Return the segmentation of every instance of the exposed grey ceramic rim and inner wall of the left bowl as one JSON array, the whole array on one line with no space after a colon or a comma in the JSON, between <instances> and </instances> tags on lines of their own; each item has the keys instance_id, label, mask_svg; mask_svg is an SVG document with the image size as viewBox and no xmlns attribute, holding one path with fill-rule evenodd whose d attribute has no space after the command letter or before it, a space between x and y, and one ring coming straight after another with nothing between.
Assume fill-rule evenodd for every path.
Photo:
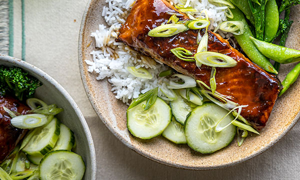
<instances>
[{"instance_id":1,"label":"exposed grey ceramic rim and inner wall of the left bowl","mask_svg":"<svg viewBox=\"0 0 300 180\"><path fill-rule=\"evenodd\" d=\"M63 112L57 114L57 118L74 132L77 144L74 151L82 156L86 166L83 179L95 180L96 154L92 137L87 123L72 97L56 80L27 62L0 54L0 64L20 67L42 82L43 85L36 89L34 96L48 104L55 103L58 107L63 108Z\"/></svg>"}]
</instances>

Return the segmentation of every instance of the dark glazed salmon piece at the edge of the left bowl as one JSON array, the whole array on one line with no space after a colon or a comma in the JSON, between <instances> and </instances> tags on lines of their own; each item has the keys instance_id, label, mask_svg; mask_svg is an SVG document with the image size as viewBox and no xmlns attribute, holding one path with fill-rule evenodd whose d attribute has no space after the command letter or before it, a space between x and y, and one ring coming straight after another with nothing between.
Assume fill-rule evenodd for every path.
<instances>
[{"instance_id":1,"label":"dark glazed salmon piece at the edge of the left bowl","mask_svg":"<svg viewBox=\"0 0 300 180\"><path fill-rule=\"evenodd\" d=\"M14 149L26 132L10 124L11 117L3 106L20 114L26 114L30 110L28 106L12 96L0 96L0 162Z\"/></svg>"}]
</instances>

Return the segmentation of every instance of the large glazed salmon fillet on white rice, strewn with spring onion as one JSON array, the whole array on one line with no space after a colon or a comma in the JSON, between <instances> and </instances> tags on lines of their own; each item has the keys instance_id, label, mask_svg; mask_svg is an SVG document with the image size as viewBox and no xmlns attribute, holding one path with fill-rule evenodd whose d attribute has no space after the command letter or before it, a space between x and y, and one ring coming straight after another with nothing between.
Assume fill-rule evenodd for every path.
<instances>
[{"instance_id":1,"label":"large glazed salmon fillet on white rice, strewn with spring onion","mask_svg":"<svg viewBox=\"0 0 300 180\"><path fill-rule=\"evenodd\" d=\"M174 13L179 20L189 20L186 14L176 10L166 0L137 0L119 30L118 40L209 85L211 67L197 67L195 62L181 60L170 51L175 47L183 47L195 54L198 47L197 30L189 29L171 37L147 35L149 30L166 23ZM202 29L201 34L203 32ZM208 31L207 50L228 55L237 61L234 67L216 68L216 91L239 105L248 105L242 108L241 115L256 129L265 126L281 89L278 78L251 62L230 46L227 40L211 31Z\"/></svg>"}]
</instances>

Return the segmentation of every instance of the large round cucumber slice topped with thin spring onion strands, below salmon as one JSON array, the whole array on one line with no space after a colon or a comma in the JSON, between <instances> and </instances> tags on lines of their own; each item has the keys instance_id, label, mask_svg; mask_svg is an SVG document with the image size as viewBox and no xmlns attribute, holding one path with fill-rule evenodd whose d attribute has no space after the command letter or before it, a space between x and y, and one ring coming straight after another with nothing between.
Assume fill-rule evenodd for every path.
<instances>
[{"instance_id":1,"label":"large round cucumber slice topped with thin spring onion strands, below salmon","mask_svg":"<svg viewBox=\"0 0 300 180\"><path fill-rule=\"evenodd\" d=\"M193 109L184 125L187 144L201 153L212 153L227 146L235 135L234 125L230 124L220 132L214 131L216 123L226 113L228 113L227 110L211 102ZM230 114L221 123L225 126L233 119Z\"/></svg>"}]
</instances>

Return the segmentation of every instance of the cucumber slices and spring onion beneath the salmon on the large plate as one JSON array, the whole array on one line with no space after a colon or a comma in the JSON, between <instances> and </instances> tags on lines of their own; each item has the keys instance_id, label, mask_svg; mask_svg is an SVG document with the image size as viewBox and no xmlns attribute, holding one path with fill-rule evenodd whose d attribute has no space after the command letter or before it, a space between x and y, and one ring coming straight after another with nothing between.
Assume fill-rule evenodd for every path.
<instances>
[{"instance_id":1,"label":"cucumber slices and spring onion beneath the salmon on the large plate","mask_svg":"<svg viewBox=\"0 0 300 180\"><path fill-rule=\"evenodd\" d=\"M127 128L132 135L150 139L161 134L176 144L187 143L195 151L212 153L227 146L235 134L238 146L248 131L259 134L240 115L246 105L228 100L192 77L172 76L179 79L131 101L127 109ZM158 90L163 93L160 97Z\"/></svg>"}]
</instances>

